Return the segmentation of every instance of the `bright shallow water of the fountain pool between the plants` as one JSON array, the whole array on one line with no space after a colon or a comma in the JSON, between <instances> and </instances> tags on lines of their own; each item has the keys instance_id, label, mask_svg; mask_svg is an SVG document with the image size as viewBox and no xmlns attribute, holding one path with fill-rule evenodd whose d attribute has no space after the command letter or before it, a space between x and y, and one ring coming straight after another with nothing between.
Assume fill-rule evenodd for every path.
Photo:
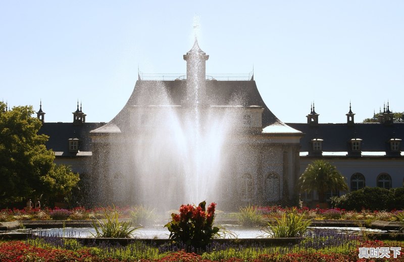
<instances>
[{"instance_id":1,"label":"bright shallow water of the fountain pool between the plants","mask_svg":"<svg viewBox=\"0 0 404 262\"><path fill-rule=\"evenodd\" d=\"M260 228L257 229L243 229L240 227L227 227L228 231L232 234L226 236L226 238L259 238L265 237L264 233L260 231ZM378 229L368 229L368 228L359 228L359 227L309 227L309 230L332 230L338 233L345 234L362 234L362 232L375 232L375 233L384 233L387 231L378 230ZM75 238L87 238L92 237L92 234L95 234L95 230L93 228L52 228L52 229L25 229L18 230L17 232L32 232L38 236L63 236L63 237L75 237ZM166 228L155 227L155 228L141 228L136 231L134 238L139 239L168 239L170 232Z\"/></svg>"}]
</instances>

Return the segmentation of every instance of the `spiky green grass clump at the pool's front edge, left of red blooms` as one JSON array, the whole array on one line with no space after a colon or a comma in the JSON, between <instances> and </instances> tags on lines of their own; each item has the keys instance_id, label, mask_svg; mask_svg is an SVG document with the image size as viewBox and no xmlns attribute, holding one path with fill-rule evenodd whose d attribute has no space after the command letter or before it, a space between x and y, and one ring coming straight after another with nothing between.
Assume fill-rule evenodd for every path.
<instances>
[{"instance_id":1,"label":"spiky green grass clump at the pool's front edge, left of red blooms","mask_svg":"<svg viewBox=\"0 0 404 262\"><path fill-rule=\"evenodd\" d=\"M120 222L119 212L115 206L111 208L103 208L105 220L92 222L92 227L95 229L94 237L105 238L131 238L134 231L141 227L132 227L130 222Z\"/></svg>"}]
</instances>

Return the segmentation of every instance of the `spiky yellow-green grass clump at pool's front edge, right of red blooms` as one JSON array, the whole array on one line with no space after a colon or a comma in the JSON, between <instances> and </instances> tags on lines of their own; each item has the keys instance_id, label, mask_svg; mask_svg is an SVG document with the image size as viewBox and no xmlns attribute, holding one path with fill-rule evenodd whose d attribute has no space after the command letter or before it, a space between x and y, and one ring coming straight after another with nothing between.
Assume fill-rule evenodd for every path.
<instances>
[{"instance_id":1,"label":"spiky yellow-green grass clump at pool's front edge, right of red blooms","mask_svg":"<svg viewBox=\"0 0 404 262\"><path fill-rule=\"evenodd\" d=\"M298 237L306 232L312 224L311 220L304 220L305 213L299 214L296 208L283 213L280 219L275 218L275 223L266 222L261 229L266 237Z\"/></svg>"}]
</instances>

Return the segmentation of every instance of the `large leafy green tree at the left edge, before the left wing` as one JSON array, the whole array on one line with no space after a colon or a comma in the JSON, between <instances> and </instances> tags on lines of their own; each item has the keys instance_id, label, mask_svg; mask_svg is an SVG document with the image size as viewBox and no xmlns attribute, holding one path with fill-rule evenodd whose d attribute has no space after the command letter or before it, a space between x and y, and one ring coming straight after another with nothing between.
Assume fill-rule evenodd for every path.
<instances>
[{"instance_id":1,"label":"large leafy green tree at the left edge, before the left wing","mask_svg":"<svg viewBox=\"0 0 404 262\"><path fill-rule=\"evenodd\" d=\"M32 106L6 110L6 105L0 102L1 206L12 206L23 199L41 195L48 190L47 178L54 178L55 183L62 185L66 182L61 179L62 173L70 176L69 168L56 167L54 164L55 154L52 150L46 150L48 137L37 134L41 121L32 117L33 113Z\"/></svg>"}]
</instances>

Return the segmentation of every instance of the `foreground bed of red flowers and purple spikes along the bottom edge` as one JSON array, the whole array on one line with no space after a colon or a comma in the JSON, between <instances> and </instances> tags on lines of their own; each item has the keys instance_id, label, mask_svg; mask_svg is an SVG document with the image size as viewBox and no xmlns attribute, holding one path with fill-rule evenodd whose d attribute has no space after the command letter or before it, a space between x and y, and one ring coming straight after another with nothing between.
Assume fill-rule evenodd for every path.
<instances>
[{"instance_id":1,"label":"foreground bed of red flowers and purple spikes along the bottom edge","mask_svg":"<svg viewBox=\"0 0 404 262\"><path fill-rule=\"evenodd\" d=\"M401 247L404 242L377 241L336 233L306 236L295 245L246 246L212 243L201 254L185 252L180 246L156 247L135 242L119 245L83 246L75 240L37 238L0 243L1 261L367 261L359 258L359 248ZM171 248L171 249L170 249ZM391 254L392 255L392 254ZM383 260L383 259L380 259ZM394 261L404 261L400 252Z\"/></svg>"}]
</instances>

